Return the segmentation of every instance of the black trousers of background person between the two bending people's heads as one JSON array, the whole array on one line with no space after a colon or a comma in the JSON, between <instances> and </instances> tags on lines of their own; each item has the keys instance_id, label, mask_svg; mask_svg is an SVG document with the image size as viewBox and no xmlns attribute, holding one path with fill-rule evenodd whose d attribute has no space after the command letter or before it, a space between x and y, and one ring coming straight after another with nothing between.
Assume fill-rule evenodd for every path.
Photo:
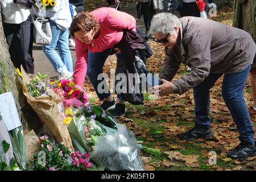
<instances>
[{"instance_id":1,"label":"black trousers of background person between the two bending people's heads","mask_svg":"<svg viewBox=\"0 0 256 182\"><path fill-rule=\"evenodd\" d=\"M141 2L141 14L143 14L146 32L148 32L150 30L151 20L155 15L155 10L153 8L153 1Z\"/></svg>"}]
</instances>

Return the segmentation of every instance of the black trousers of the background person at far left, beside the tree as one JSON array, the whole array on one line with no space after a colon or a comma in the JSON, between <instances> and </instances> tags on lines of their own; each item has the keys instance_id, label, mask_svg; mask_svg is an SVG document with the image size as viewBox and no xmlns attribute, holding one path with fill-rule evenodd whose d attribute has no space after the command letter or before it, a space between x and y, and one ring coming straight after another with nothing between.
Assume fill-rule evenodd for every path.
<instances>
[{"instance_id":1,"label":"black trousers of the background person at far left, beside the tree","mask_svg":"<svg viewBox=\"0 0 256 182\"><path fill-rule=\"evenodd\" d=\"M3 29L11 61L15 68L23 66L27 73L34 74L33 48L33 25L31 16L20 24L3 23Z\"/></svg>"}]
</instances>

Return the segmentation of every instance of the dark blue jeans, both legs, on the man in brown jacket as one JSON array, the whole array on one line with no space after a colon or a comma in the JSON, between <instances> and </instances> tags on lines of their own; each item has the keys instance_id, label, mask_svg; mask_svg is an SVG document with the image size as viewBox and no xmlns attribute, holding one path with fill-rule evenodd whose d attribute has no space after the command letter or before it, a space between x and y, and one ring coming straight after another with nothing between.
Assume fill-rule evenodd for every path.
<instances>
[{"instance_id":1,"label":"dark blue jeans, both legs, on the man in brown jacket","mask_svg":"<svg viewBox=\"0 0 256 182\"><path fill-rule=\"evenodd\" d=\"M239 73L225 74L222 83L222 97L228 107L237 129L240 133L240 140L254 145L254 130L250 121L250 115L243 99L243 88L251 65ZM209 76L195 86L195 114L196 126L210 126L210 88L223 74L210 73Z\"/></svg>"}]
</instances>

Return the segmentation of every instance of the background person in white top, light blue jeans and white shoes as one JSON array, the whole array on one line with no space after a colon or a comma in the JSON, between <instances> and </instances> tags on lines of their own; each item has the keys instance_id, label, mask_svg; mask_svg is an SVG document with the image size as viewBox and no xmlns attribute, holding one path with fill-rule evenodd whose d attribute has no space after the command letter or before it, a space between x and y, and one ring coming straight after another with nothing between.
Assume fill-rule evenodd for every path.
<instances>
[{"instance_id":1,"label":"background person in white top, light blue jeans and white shoes","mask_svg":"<svg viewBox=\"0 0 256 182\"><path fill-rule=\"evenodd\" d=\"M68 0L56 1L55 10L47 13L52 30L51 44L43 46L43 52L59 73L59 79L70 79L73 75L73 61L68 47L68 28L72 17ZM55 51L56 46L60 56Z\"/></svg>"}]
</instances>

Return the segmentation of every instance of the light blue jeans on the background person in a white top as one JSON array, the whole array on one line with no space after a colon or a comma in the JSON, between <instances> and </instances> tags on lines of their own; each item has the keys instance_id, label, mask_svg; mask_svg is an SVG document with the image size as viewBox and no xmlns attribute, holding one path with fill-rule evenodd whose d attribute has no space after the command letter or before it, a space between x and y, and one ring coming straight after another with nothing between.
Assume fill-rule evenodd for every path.
<instances>
[{"instance_id":1,"label":"light blue jeans on the background person in a white top","mask_svg":"<svg viewBox=\"0 0 256 182\"><path fill-rule=\"evenodd\" d=\"M61 30L57 24L49 20L52 30L52 41L48 46L43 46L44 54L47 56L55 71L61 73L65 70L73 73L73 61L68 47L69 30ZM56 46L59 54L55 51Z\"/></svg>"}]
</instances>

